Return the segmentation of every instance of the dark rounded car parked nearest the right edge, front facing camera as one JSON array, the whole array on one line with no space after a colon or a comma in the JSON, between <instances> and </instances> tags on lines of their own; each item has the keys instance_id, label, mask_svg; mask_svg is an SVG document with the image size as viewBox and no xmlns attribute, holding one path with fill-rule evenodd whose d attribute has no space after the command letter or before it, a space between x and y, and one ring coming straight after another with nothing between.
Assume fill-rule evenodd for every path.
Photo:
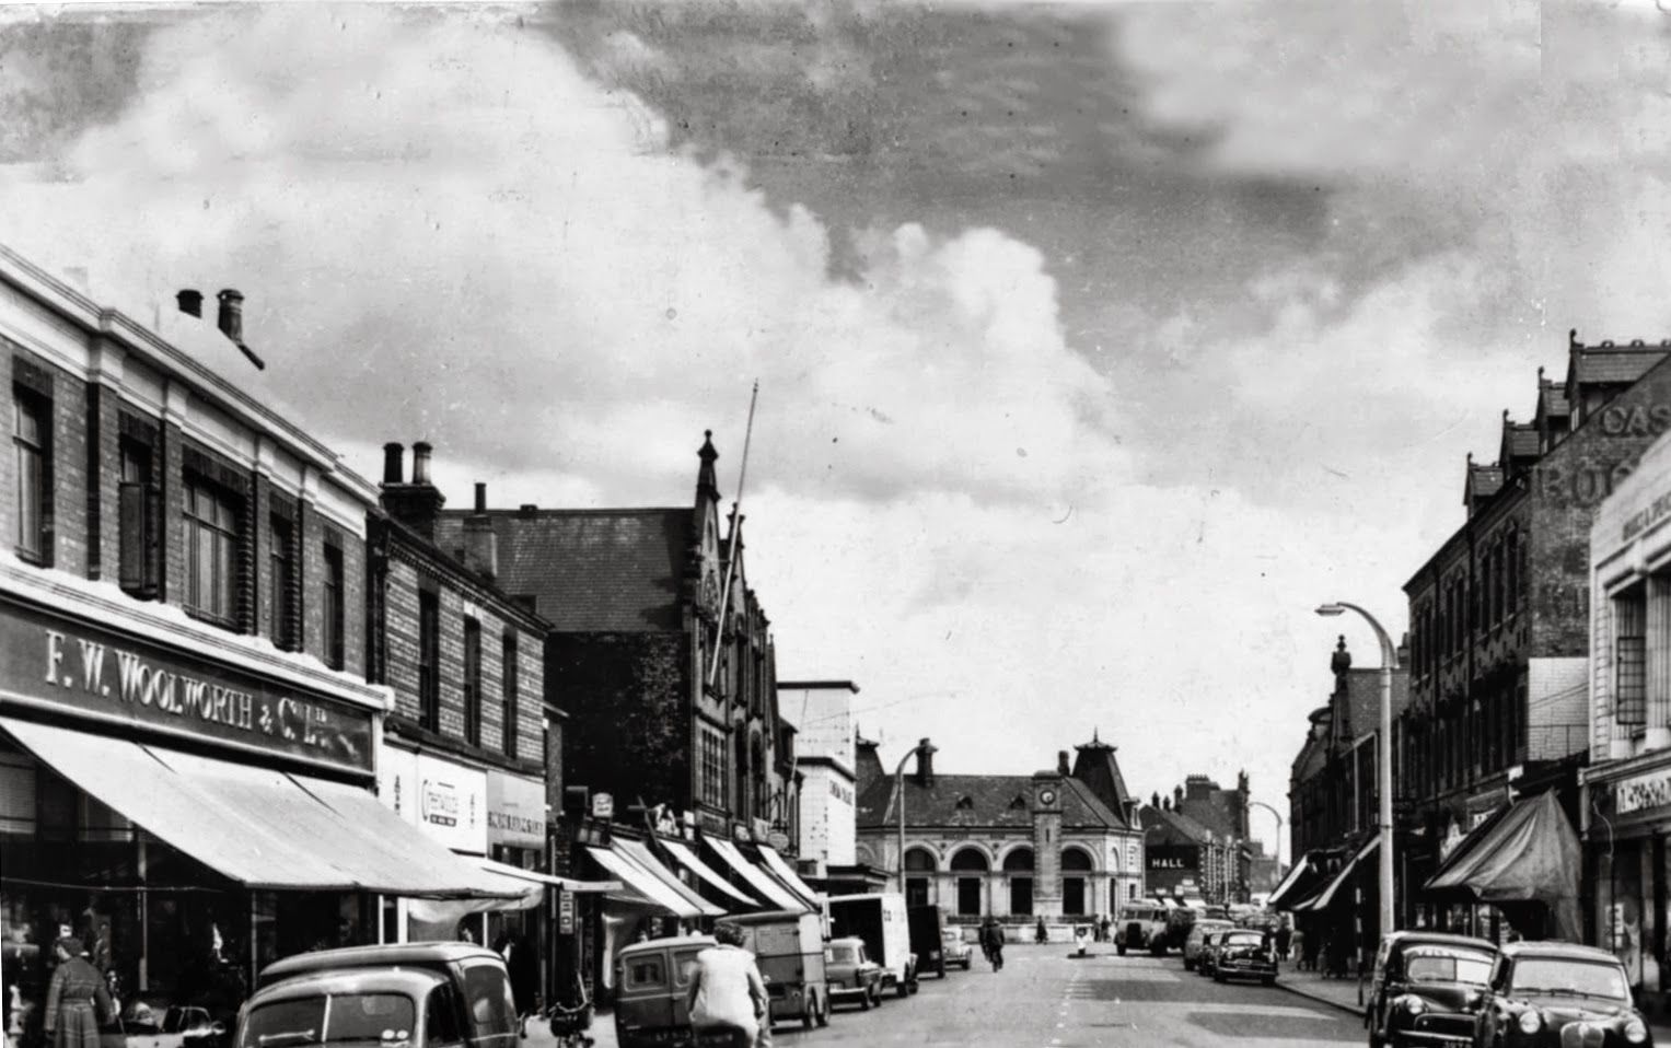
<instances>
[{"instance_id":1,"label":"dark rounded car parked nearest the right edge, front facing camera","mask_svg":"<svg viewBox=\"0 0 1671 1048\"><path fill-rule=\"evenodd\" d=\"M1653 1043L1611 953L1572 943L1509 943L1497 953L1474 1048Z\"/></svg>"}]
</instances>

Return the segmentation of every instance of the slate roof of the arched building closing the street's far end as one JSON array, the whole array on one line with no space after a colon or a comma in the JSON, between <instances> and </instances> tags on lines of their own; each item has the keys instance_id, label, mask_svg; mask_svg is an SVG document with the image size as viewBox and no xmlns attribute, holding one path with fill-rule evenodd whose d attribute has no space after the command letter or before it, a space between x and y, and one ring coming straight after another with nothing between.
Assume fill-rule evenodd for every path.
<instances>
[{"instance_id":1,"label":"slate roof of the arched building closing the street's far end","mask_svg":"<svg viewBox=\"0 0 1671 1048\"><path fill-rule=\"evenodd\" d=\"M1128 829L1126 821L1098 801L1084 782L1068 777L1061 784L1064 829ZM906 774L906 826L1028 829L1033 826L1033 776L934 776L932 786L922 786L914 774ZM859 827L897 826L892 799L892 776L872 782L859 796Z\"/></svg>"}]
</instances>

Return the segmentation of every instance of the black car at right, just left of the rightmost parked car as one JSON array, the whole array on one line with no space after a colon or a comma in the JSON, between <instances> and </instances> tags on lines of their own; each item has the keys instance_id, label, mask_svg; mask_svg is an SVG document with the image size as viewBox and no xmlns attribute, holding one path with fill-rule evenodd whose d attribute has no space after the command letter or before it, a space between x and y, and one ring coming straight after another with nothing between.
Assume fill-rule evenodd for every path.
<instances>
[{"instance_id":1,"label":"black car at right, just left of the rightmost parked car","mask_svg":"<svg viewBox=\"0 0 1671 1048\"><path fill-rule=\"evenodd\" d=\"M1497 948L1439 931L1395 931L1375 951L1364 1008L1372 1048L1474 1038Z\"/></svg>"}]
</instances>

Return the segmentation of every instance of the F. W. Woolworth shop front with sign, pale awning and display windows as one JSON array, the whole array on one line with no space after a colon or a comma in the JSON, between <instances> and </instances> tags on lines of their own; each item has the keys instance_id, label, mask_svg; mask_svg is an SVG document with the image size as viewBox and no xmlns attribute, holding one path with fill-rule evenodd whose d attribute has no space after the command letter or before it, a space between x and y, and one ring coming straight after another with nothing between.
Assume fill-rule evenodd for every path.
<instances>
[{"instance_id":1,"label":"F. W. Woolworth shop front with sign, pale awning and display windows","mask_svg":"<svg viewBox=\"0 0 1671 1048\"><path fill-rule=\"evenodd\" d=\"M511 894L376 802L381 689L90 590L0 592L13 1043L40 1043L63 934L142 1030L169 1008L229 1020L269 961L378 941L379 893Z\"/></svg>"}]
</instances>

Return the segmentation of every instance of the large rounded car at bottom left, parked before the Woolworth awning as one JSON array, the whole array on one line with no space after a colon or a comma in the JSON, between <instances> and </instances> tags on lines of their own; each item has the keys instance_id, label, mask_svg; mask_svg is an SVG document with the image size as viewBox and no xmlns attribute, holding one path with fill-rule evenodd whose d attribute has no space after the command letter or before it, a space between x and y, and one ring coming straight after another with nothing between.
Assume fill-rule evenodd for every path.
<instances>
[{"instance_id":1,"label":"large rounded car at bottom left, parked before the Woolworth awning","mask_svg":"<svg viewBox=\"0 0 1671 1048\"><path fill-rule=\"evenodd\" d=\"M307 1048L328 1033L331 1043L471 1048L521 1040L505 959L470 943L353 946L274 961L239 1008L234 1045Z\"/></svg>"}]
</instances>

